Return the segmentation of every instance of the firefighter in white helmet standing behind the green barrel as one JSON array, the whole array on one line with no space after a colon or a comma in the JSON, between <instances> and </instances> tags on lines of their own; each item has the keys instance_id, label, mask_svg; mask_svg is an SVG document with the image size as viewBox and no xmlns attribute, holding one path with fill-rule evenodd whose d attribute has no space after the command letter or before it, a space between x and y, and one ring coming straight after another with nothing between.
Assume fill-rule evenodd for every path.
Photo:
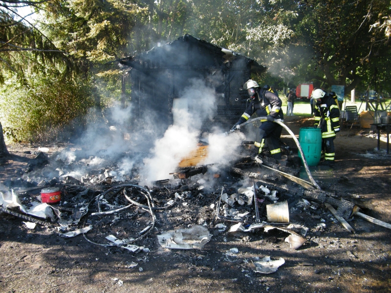
<instances>
[{"instance_id":1,"label":"firefighter in white helmet standing behind the green barrel","mask_svg":"<svg viewBox=\"0 0 391 293\"><path fill-rule=\"evenodd\" d=\"M335 100L318 88L312 92L315 105L315 127L322 131L322 155L324 165L333 165L335 157L334 138L339 132L339 107Z\"/></svg>"}]
</instances>

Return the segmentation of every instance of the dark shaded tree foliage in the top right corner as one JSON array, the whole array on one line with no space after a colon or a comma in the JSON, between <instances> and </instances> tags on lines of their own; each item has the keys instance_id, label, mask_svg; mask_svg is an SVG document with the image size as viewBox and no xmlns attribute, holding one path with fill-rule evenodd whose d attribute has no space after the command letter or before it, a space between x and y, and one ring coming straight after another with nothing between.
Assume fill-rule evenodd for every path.
<instances>
[{"instance_id":1,"label":"dark shaded tree foliage in the top right corner","mask_svg":"<svg viewBox=\"0 0 391 293\"><path fill-rule=\"evenodd\" d=\"M314 50L304 72L310 68L312 79L345 85L347 92L368 81L375 67L390 64L389 40L381 29L370 31L379 15L389 13L390 3L383 0L309 0L296 25L298 42Z\"/></svg>"}]
</instances>

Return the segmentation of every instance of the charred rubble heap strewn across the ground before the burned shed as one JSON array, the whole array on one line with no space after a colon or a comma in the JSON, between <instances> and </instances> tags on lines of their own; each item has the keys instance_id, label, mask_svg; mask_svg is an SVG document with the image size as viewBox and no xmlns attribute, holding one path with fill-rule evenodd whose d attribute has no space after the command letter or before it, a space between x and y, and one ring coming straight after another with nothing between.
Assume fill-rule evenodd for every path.
<instances>
[{"instance_id":1,"label":"charred rubble heap strewn across the ground before the burned shed","mask_svg":"<svg viewBox=\"0 0 391 293\"><path fill-rule=\"evenodd\" d=\"M314 241L311 236L321 238L335 219L346 222L350 216L359 215L355 204L341 195L315 189L309 182L301 185L301 180L289 180L289 176L298 174L289 160L286 166L264 160L265 166L280 171L267 168L269 174L258 173L261 168L257 163L243 158L219 176L216 170L209 171L209 166L179 168L171 174L173 178L155 181L149 187L138 185L140 177L133 171L118 177L115 164L76 171L83 159L70 162L56 155L53 162L50 154L46 157L47 162L40 153L22 171L22 177L0 186L0 210L27 220L21 223L29 229L40 224L64 238L84 237L91 245L108 250L155 253L156 247L150 246L157 244L155 236L165 249L201 250L212 246L215 237L221 237L227 243L221 259L242 264L247 261L241 257L242 247L252 241L278 243L277 247L286 253L306 250ZM289 176L281 176L283 171ZM51 179L42 177L43 173ZM45 184L38 188L40 182ZM13 190L9 190L11 186ZM41 203L40 192L53 188L61 191L61 200ZM271 208L281 205L283 214L272 217ZM333 220L327 217L328 210ZM227 230L228 224L232 225ZM285 259L254 259L254 271L276 272ZM136 266L142 272L135 262L127 267Z\"/></svg>"}]
</instances>

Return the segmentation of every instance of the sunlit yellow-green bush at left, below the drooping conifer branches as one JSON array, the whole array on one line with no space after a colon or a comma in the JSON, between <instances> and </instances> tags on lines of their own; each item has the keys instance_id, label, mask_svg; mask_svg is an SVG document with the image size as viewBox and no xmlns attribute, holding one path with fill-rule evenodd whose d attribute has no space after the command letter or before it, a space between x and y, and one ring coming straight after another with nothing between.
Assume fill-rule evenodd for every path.
<instances>
[{"instance_id":1,"label":"sunlit yellow-green bush at left, below the drooping conifer branches","mask_svg":"<svg viewBox=\"0 0 391 293\"><path fill-rule=\"evenodd\" d=\"M0 92L0 120L15 141L53 138L94 105L88 81L34 75L28 84L6 84Z\"/></svg>"}]
</instances>

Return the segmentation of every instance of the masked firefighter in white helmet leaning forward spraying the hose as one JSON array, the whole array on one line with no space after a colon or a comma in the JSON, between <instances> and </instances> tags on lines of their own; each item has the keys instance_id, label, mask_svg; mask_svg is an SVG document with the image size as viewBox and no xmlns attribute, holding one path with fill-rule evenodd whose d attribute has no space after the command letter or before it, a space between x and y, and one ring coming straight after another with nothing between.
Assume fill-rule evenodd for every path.
<instances>
[{"instance_id":1,"label":"masked firefighter in white helmet leaning forward spraying the hose","mask_svg":"<svg viewBox=\"0 0 391 293\"><path fill-rule=\"evenodd\" d=\"M248 80L243 87L250 96L250 105L244 111L243 115L241 115L239 121L234 125L232 130L239 129L239 125L247 121L254 112L257 113L258 117L266 116L267 120L261 120L262 123L255 138L254 146L256 154L260 154L262 147L267 143L272 156L277 160L281 160L280 136L282 126L273 122L274 119L283 121L281 99L270 91L268 85L261 88L257 82L253 80Z\"/></svg>"}]
</instances>

